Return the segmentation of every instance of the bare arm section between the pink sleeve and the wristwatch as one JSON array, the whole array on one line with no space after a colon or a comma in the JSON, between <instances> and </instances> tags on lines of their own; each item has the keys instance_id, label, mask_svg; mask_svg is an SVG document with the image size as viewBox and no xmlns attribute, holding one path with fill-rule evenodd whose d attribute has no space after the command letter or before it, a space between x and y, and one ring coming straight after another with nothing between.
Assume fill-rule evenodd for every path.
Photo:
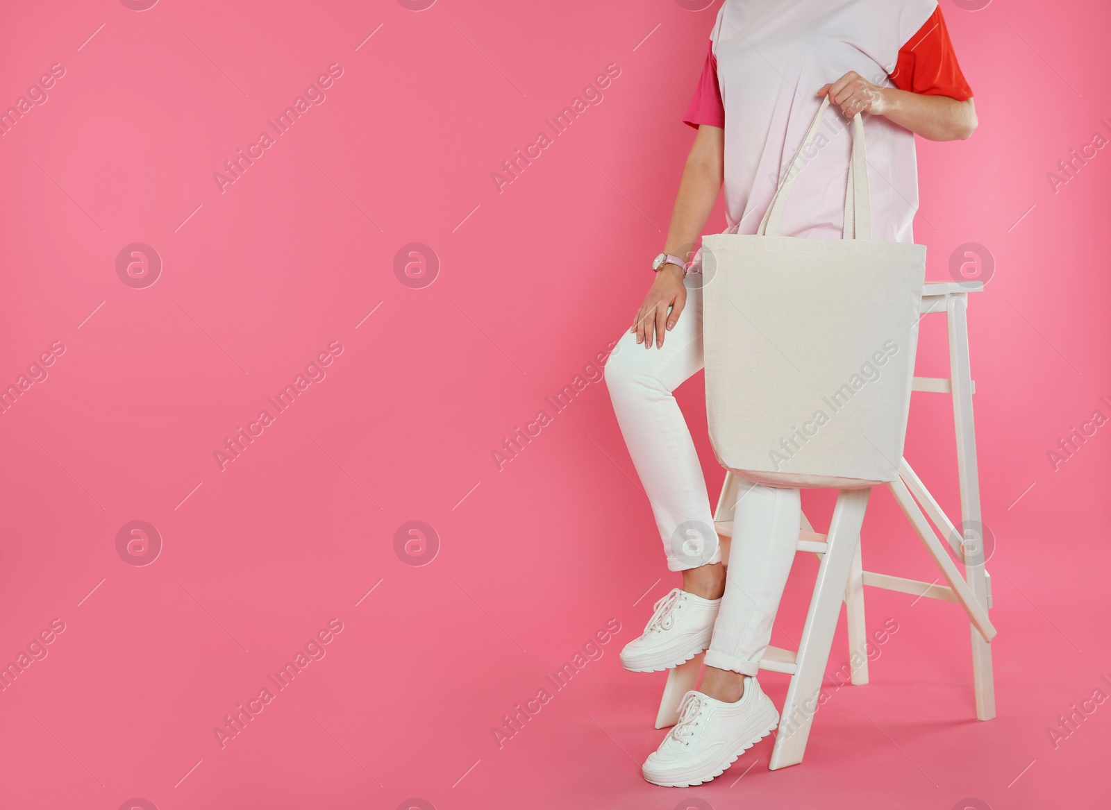
<instances>
[{"instance_id":1,"label":"bare arm section between the pink sleeve and the wristwatch","mask_svg":"<svg viewBox=\"0 0 1111 810\"><path fill-rule=\"evenodd\" d=\"M699 127L679 181L664 252L690 259L721 191L723 150L723 129L709 124Z\"/></svg>"}]
</instances>

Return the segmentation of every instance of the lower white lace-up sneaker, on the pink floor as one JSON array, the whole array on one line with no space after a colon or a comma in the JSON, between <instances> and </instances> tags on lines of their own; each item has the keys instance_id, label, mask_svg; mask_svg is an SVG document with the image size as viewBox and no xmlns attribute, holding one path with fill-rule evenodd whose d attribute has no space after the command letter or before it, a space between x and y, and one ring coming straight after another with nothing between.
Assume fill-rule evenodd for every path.
<instances>
[{"instance_id":1,"label":"lower white lace-up sneaker, on the pink floor","mask_svg":"<svg viewBox=\"0 0 1111 810\"><path fill-rule=\"evenodd\" d=\"M708 782L779 724L779 712L755 678L744 679L744 694L725 703L687 692L679 722L648 756L644 779L669 788Z\"/></svg>"}]
</instances>

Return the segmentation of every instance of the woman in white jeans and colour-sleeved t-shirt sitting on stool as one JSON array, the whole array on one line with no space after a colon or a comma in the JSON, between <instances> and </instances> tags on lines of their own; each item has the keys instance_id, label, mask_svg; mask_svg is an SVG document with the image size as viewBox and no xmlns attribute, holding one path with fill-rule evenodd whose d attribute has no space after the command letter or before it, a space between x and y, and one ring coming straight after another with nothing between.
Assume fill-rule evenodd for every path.
<instances>
[{"instance_id":1,"label":"woman in white jeans and colour-sleeved t-shirt sitting on stool","mask_svg":"<svg viewBox=\"0 0 1111 810\"><path fill-rule=\"evenodd\" d=\"M977 127L935 0L725 0L687 123L698 129L655 279L605 366L621 431L682 588L657 602L627 669L669 669L703 650L705 673L643 766L657 784L719 776L779 721L757 681L799 537L799 490L741 488L727 578L705 481L672 391L702 368L695 240L724 184L725 232L754 233L821 97L863 113L874 239L912 242L914 136ZM827 114L782 236L840 239L851 130ZM690 259L688 261L688 259ZM641 349L643 347L643 350ZM654 350L653 350L654 349Z\"/></svg>"}]
</instances>

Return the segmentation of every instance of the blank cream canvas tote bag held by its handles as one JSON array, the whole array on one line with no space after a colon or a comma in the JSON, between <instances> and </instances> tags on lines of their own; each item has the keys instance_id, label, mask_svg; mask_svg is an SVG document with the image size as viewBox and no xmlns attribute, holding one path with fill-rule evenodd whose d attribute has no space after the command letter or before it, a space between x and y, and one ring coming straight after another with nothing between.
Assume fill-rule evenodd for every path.
<instances>
[{"instance_id":1,"label":"blank cream canvas tote bag held by its handles","mask_svg":"<svg viewBox=\"0 0 1111 810\"><path fill-rule=\"evenodd\" d=\"M771 487L893 481L907 432L925 246L871 238L860 113L842 239L780 236L827 107L757 233L702 238L710 441L723 467Z\"/></svg>"}]
</instances>

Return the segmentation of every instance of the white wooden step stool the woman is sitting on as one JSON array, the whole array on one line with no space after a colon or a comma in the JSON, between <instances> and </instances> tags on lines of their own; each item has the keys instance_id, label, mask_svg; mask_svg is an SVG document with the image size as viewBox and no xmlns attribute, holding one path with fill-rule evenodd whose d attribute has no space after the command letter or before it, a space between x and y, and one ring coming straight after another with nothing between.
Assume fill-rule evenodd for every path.
<instances>
[{"instance_id":1,"label":"white wooden step stool the woman is sitting on","mask_svg":"<svg viewBox=\"0 0 1111 810\"><path fill-rule=\"evenodd\" d=\"M899 478L888 484L895 500L925 543L947 586L864 571L860 553L860 527L864 519L870 489L841 490L833 508L829 531L814 531L802 516L799 551L811 551L820 560L810 609L802 629L799 650L793 652L768 647L760 669L791 676L787 699L780 712L780 726L769 769L775 770L802 761L818 696L829 660L833 631L845 603L849 623L850 653L865 649L864 586L902 591L915 597L929 597L960 602L969 616L972 633L972 674L977 717L990 720L995 716L995 693L991 667L990 641L995 629L988 618L991 607L991 579L984 569L984 548L980 516L980 486L975 460L975 432L972 421L973 383L969 367L968 293L983 289L980 282L927 283L922 294L922 316L944 312L949 328L949 378L915 377L913 390L948 393L953 400L953 422L957 433L957 476L960 483L961 520L964 536L902 459ZM722 561L728 564L729 539L733 530L733 507L739 480L732 473L718 499L714 523L722 537ZM929 520L927 519L929 518ZM931 526L932 521L932 526ZM938 534L947 540L964 573L949 558ZM934 580L937 581L937 580ZM655 728L674 726L679 720L679 703L685 692L695 689L702 670L700 653L668 672ZM868 683L868 657L850 654L851 681Z\"/></svg>"}]
</instances>

